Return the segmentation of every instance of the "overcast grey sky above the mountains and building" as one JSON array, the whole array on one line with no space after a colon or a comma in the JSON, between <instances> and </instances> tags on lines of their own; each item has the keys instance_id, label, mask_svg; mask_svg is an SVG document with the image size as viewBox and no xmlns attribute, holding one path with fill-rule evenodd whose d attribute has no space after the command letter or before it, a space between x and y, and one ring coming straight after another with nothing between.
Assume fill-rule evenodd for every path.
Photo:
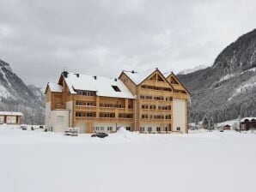
<instances>
[{"instance_id":1,"label":"overcast grey sky above the mountains and building","mask_svg":"<svg viewBox=\"0 0 256 192\"><path fill-rule=\"evenodd\" d=\"M255 0L0 0L0 59L44 87L66 67L178 72L211 65L256 27Z\"/></svg>"}]
</instances>

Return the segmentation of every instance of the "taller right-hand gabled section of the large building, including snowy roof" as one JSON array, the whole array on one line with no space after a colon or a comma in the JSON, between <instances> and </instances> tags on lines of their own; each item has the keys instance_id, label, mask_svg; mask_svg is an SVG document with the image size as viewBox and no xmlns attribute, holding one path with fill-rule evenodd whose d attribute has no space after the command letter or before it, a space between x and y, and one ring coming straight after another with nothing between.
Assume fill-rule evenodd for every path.
<instances>
[{"instance_id":1,"label":"taller right-hand gabled section of the large building, including snowy roof","mask_svg":"<svg viewBox=\"0 0 256 192\"><path fill-rule=\"evenodd\" d=\"M135 129L150 133L187 133L187 109L190 94L171 73L159 69L145 74L123 71L119 79L135 95Z\"/></svg>"}]
</instances>

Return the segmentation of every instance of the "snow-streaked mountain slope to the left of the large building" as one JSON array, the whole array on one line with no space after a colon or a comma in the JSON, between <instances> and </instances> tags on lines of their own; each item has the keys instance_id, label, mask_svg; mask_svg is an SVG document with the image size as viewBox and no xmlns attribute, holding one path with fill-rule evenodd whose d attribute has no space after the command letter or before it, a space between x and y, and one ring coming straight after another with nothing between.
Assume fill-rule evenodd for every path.
<instances>
[{"instance_id":1,"label":"snow-streaked mountain slope to the left of the large building","mask_svg":"<svg viewBox=\"0 0 256 192\"><path fill-rule=\"evenodd\" d=\"M30 123L34 112L34 122L43 123L44 94L40 88L27 86L15 75L9 66L0 60L0 111L21 111L23 123Z\"/></svg>"}]
</instances>

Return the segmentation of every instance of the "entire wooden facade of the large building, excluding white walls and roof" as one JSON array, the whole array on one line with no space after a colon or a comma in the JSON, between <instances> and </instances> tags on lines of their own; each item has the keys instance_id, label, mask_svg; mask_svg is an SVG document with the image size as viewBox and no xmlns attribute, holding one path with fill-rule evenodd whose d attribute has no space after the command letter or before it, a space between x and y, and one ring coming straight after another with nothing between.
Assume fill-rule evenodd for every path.
<instances>
[{"instance_id":1,"label":"entire wooden facade of the large building, excluding white walls and roof","mask_svg":"<svg viewBox=\"0 0 256 192\"><path fill-rule=\"evenodd\" d=\"M61 75L58 85L63 87L62 92L54 92L47 86L46 103L51 103L51 111L69 110L69 127L84 126L86 133L101 131L97 128L101 124L105 124L109 132L126 126L126 129L133 131L170 133L174 131L173 99L186 100L187 113L190 95L174 75L166 78L155 69L138 85L125 73L119 75L119 80L128 87L134 99L98 96L88 90L70 93L64 75ZM151 125L155 125L155 129L149 129ZM187 126L186 114L186 133Z\"/></svg>"}]
</instances>

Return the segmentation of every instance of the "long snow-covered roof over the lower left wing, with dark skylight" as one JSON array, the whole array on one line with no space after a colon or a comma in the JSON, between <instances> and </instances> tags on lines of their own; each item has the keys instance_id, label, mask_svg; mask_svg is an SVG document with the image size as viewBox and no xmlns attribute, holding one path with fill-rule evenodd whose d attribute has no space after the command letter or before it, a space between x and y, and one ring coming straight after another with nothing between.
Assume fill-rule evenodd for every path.
<instances>
[{"instance_id":1,"label":"long snow-covered roof over the lower left wing, with dark skylight","mask_svg":"<svg viewBox=\"0 0 256 192\"><path fill-rule=\"evenodd\" d=\"M118 79L69 73L64 80L72 94L76 94L76 90L87 90L103 97L134 99L129 89ZM115 91L113 86L119 87L119 92Z\"/></svg>"}]
</instances>

